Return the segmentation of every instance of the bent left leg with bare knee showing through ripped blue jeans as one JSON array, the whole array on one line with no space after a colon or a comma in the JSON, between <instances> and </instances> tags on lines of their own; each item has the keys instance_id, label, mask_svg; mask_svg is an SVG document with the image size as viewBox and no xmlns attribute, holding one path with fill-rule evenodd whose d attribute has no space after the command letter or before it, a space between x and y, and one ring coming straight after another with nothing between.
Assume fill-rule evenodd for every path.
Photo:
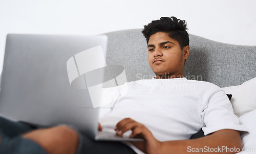
<instances>
[{"instance_id":1,"label":"bent left leg with bare knee showing through ripped blue jeans","mask_svg":"<svg viewBox=\"0 0 256 154\"><path fill-rule=\"evenodd\" d=\"M78 135L69 126L34 130L23 122L2 117L0 138L0 151L6 153L75 153L78 145Z\"/></svg>"}]
</instances>

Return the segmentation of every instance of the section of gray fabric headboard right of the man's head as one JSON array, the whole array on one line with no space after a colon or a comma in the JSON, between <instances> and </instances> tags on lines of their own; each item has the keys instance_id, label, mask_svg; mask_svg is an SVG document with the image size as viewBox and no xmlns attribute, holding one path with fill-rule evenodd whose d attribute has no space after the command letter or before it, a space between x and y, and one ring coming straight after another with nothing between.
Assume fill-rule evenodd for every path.
<instances>
[{"instance_id":1,"label":"section of gray fabric headboard right of the man's head","mask_svg":"<svg viewBox=\"0 0 256 154\"><path fill-rule=\"evenodd\" d=\"M190 55L185 74L201 75L220 87L241 85L256 76L256 46L211 41L189 35Z\"/></svg>"}]
</instances>

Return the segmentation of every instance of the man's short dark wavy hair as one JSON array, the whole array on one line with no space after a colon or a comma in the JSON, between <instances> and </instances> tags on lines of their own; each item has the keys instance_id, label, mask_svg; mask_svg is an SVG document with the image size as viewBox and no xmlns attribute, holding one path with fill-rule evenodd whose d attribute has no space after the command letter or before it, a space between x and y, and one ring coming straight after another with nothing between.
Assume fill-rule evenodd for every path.
<instances>
[{"instance_id":1,"label":"man's short dark wavy hair","mask_svg":"<svg viewBox=\"0 0 256 154\"><path fill-rule=\"evenodd\" d=\"M185 20L177 19L176 17L161 17L160 20L154 20L147 25L144 25L142 34L146 38L146 42L150 40L150 36L157 32L167 33L172 39L179 42L181 49L189 45L187 33L187 23Z\"/></svg>"}]
</instances>

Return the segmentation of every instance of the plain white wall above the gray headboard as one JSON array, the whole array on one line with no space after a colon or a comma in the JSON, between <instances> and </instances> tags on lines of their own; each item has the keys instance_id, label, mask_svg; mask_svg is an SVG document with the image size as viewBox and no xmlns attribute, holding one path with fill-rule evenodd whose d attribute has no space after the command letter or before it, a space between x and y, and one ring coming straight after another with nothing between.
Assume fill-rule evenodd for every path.
<instances>
[{"instance_id":1,"label":"plain white wall above the gray headboard","mask_svg":"<svg viewBox=\"0 0 256 154\"><path fill-rule=\"evenodd\" d=\"M161 16L187 20L190 34L256 45L254 0L1 0L0 70L8 33L84 34L143 28Z\"/></svg>"}]
</instances>

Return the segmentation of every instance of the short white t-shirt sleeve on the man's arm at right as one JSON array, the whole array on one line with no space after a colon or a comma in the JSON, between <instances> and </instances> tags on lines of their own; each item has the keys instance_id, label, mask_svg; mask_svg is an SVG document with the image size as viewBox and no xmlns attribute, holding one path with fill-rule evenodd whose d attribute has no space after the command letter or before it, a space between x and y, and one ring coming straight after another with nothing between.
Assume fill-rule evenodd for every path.
<instances>
[{"instance_id":1,"label":"short white t-shirt sleeve on the man's arm at right","mask_svg":"<svg viewBox=\"0 0 256 154\"><path fill-rule=\"evenodd\" d=\"M223 129L247 132L246 127L241 125L239 118L234 115L232 105L226 93L221 89L209 98L201 116L205 124L204 135Z\"/></svg>"}]
</instances>

